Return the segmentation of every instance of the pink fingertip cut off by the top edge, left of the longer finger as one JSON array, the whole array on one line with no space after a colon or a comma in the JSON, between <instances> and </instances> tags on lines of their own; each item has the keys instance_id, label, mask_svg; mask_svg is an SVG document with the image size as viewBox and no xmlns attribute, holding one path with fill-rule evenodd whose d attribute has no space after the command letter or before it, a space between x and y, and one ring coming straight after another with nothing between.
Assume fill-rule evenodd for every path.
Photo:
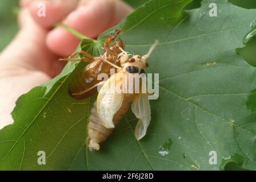
<instances>
[{"instance_id":1,"label":"pink fingertip cut off by the top edge, left of the longer finger","mask_svg":"<svg viewBox=\"0 0 256 182\"><path fill-rule=\"evenodd\" d=\"M37 24L49 28L53 27L55 23L61 22L77 7L77 4L78 0L33 1L30 3L29 9Z\"/></svg>"}]
</instances>

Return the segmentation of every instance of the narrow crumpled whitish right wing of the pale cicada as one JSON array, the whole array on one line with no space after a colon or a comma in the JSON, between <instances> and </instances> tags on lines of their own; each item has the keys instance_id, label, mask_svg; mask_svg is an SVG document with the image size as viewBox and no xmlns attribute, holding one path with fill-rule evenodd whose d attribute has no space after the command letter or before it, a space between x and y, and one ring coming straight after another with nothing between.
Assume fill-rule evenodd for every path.
<instances>
[{"instance_id":1,"label":"narrow crumpled whitish right wing of the pale cicada","mask_svg":"<svg viewBox=\"0 0 256 182\"><path fill-rule=\"evenodd\" d=\"M149 98L146 93L140 93L135 97L131 105L131 110L133 110L133 113L139 119L135 127L135 137L139 140L146 135L147 127L151 121Z\"/></svg>"}]
</instances>

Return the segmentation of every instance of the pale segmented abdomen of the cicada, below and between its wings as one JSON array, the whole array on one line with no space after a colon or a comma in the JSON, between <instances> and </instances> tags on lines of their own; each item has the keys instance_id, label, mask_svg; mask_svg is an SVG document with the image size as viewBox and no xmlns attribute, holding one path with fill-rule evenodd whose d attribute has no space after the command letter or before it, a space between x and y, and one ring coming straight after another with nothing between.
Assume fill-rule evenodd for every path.
<instances>
[{"instance_id":1,"label":"pale segmented abdomen of the cicada, below and between its wings","mask_svg":"<svg viewBox=\"0 0 256 182\"><path fill-rule=\"evenodd\" d=\"M123 115L129 110L130 102L134 100L135 94L123 94L123 102L120 109L113 117L114 125L117 125L122 119ZM107 129L103 126L97 114L97 102L90 111L89 122L87 126L87 140L86 144L89 150L99 150L99 143L104 142L112 133L113 129Z\"/></svg>"}]
</instances>

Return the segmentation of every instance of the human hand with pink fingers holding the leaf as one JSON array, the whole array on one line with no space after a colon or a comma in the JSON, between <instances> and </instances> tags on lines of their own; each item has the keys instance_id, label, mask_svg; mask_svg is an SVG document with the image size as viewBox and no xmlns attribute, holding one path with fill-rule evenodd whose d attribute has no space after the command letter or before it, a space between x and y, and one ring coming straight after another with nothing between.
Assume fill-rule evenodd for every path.
<instances>
[{"instance_id":1,"label":"human hand with pink fingers holding the leaf","mask_svg":"<svg viewBox=\"0 0 256 182\"><path fill-rule=\"evenodd\" d=\"M38 3L46 5L39 17ZM117 24L133 9L119 0L22 0L19 30L0 55L0 129L13 122L11 111L21 94L49 81L61 72L58 57L69 56L79 39L62 27L63 22L90 38Z\"/></svg>"}]
</instances>

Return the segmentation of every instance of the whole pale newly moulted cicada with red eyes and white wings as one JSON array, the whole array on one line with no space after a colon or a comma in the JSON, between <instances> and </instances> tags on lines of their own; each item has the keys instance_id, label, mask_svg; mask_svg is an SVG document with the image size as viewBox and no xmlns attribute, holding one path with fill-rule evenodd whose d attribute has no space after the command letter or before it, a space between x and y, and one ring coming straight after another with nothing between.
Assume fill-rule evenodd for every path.
<instances>
[{"instance_id":1,"label":"whole pale newly moulted cicada with red eyes and white wings","mask_svg":"<svg viewBox=\"0 0 256 182\"><path fill-rule=\"evenodd\" d=\"M144 56L134 55L129 57L127 52L123 51L120 65L114 65L117 73L111 76L99 90L97 100L90 110L89 123L87 126L87 147L91 151L98 151L99 143L104 142L112 133L115 125L121 120L123 115L131 110L138 118L135 127L135 137L137 140L143 138L151 120L151 110L148 92L142 92L143 82L136 88L135 85L129 85L130 74L145 74L145 69L149 66L146 59L156 46L157 41L151 46L149 52ZM145 76L145 75L144 75ZM134 77L133 77L134 78ZM133 90L138 92L116 92L127 91L132 86ZM113 92L114 91L114 92Z\"/></svg>"}]
</instances>

